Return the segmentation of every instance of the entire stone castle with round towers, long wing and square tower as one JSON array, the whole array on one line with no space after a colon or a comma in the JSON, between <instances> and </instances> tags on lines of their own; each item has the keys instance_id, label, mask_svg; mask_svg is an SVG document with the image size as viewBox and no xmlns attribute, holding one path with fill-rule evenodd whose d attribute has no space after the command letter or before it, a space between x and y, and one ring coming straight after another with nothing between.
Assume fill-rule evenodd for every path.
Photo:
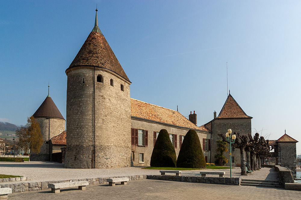
<instances>
[{"instance_id":1,"label":"entire stone castle with round towers, long wing and square tower","mask_svg":"<svg viewBox=\"0 0 301 200\"><path fill-rule=\"evenodd\" d=\"M200 127L195 112L187 119L178 111L130 98L131 82L98 27L97 10L95 26L66 74L66 131L62 133L65 120L49 95L33 115L45 140L38 160L51 160L50 154L65 146L66 168L149 166L161 129L168 131L177 155L185 134L194 129L206 162L214 163L221 133L229 128L251 133L252 117L230 93L219 115L214 112L213 120ZM239 164L240 152L234 151L232 165Z\"/></svg>"}]
</instances>

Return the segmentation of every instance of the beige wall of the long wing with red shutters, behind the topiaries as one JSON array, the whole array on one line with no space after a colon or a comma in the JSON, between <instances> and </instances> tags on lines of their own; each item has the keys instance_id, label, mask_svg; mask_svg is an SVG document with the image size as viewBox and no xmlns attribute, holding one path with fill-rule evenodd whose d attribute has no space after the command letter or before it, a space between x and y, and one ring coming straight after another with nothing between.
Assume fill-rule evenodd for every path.
<instances>
[{"instance_id":1,"label":"beige wall of the long wing with red shutters, behind the topiaries","mask_svg":"<svg viewBox=\"0 0 301 200\"><path fill-rule=\"evenodd\" d=\"M178 154L180 152L180 140L179 136L185 136L188 132L188 128L176 127L168 124L157 123L153 121L146 121L143 119L132 118L131 120L132 128L148 130L148 145L147 146L137 146L132 145L132 164L134 166L150 166L151 154L154 149L154 131L160 132L161 129L166 129L169 134L177 135L177 146L175 152ZM203 138L211 139L211 134L203 131L196 130L199 136L201 146L203 147ZM131 135L131 132L129 132ZM130 143L131 144L131 143ZM144 162L139 162L139 153L144 154ZM208 157L208 162L210 162L210 151L203 151L204 156Z\"/></svg>"}]
</instances>

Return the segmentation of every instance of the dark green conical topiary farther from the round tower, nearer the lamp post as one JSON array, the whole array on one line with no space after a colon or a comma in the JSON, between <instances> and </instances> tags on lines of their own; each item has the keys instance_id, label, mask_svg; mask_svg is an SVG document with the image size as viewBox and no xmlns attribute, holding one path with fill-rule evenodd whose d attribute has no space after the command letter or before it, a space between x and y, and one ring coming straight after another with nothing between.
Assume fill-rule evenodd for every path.
<instances>
[{"instance_id":1,"label":"dark green conical topiary farther from the round tower, nearer the lamp post","mask_svg":"<svg viewBox=\"0 0 301 200\"><path fill-rule=\"evenodd\" d=\"M195 130L189 130L183 139L178 155L177 167L206 168L200 139Z\"/></svg>"}]
</instances>

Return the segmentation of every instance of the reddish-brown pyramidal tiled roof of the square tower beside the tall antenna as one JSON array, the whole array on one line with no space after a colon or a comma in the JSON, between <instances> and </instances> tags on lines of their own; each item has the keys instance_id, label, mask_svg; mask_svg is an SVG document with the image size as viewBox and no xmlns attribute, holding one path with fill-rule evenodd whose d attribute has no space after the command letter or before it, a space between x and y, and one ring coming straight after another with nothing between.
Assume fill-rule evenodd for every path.
<instances>
[{"instance_id":1,"label":"reddish-brown pyramidal tiled roof of the square tower beside the tall antenna","mask_svg":"<svg viewBox=\"0 0 301 200\"><path fill-rule=\"evenodd\" d=\"M240 108L238 103L229 94L219 116L216 118L252 118L248 116L243 109Z\"/></svg>"}]
</instances>

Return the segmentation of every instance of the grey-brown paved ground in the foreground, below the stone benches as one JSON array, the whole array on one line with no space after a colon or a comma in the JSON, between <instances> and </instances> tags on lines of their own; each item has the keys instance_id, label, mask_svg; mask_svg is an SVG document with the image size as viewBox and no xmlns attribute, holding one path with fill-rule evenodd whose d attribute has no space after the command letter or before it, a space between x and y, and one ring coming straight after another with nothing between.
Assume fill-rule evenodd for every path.
<instances>
[{"instance_id":1,"label":"grey-brown paved ground in the foreground, below the stone benches","mask_svg":"<svg viewBox=\"0 0 301 200\"><path fill-rule=\"evenodd\" d=\"M63 189L61 193L42 190L9 194L8 199L300 199L300 191L253 186L139 180L127 185L89 185L86 190Z\"/></svg>"}]
</instances>

